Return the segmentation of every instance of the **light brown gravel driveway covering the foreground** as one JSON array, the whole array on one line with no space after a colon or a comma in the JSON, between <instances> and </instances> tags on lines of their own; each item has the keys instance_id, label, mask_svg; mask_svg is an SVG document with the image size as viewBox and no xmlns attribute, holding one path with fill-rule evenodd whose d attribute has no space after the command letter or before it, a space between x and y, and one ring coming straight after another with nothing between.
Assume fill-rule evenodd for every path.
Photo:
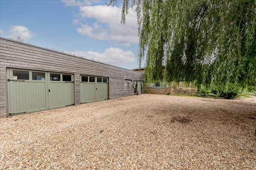
<instances>
[{"instance_id":1,"label":"light brown gravel driveway covering the foreground","mask_svg":"<svg viewBox=\"0 0 256 170\"><path fill-rule=\"evenodd\" d=\"M3 118L0 169L255 170L251 100L141 94Z\"/></svg>"}]
</instances>

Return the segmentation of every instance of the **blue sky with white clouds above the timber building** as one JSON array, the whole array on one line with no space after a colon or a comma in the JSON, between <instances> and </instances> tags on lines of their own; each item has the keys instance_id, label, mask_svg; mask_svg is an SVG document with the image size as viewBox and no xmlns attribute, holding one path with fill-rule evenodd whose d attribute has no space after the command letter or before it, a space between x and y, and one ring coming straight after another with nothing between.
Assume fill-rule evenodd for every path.
<instances>
[{"instance_id":1,"label":"blue sky with white clouds above the timber building","mask_svg":"<svg viewBox=\"0 0 256 170\"><path fill-rule=\"evenodd\" d=\"M137 68L134 9L121 25L120 6L105 0L0 0L0 36L71 52L119 67Z\"/></svg>"}]
</instances>

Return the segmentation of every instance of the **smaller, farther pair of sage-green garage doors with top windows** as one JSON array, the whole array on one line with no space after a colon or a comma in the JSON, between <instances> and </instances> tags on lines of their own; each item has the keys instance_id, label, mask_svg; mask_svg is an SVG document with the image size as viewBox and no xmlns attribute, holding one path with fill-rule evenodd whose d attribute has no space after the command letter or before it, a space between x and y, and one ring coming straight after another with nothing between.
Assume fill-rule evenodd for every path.
<instances>
[{"instance_id":1,"label":"smaller, farther pair of sage-green garage doors with top windows","mask_svg":"<svg viewBox=\"0 0 256 170\"><path fill-rule=\"evenodd\" d=\"M108 78L80 76L80 102L89 103L108 99Z\"/></svg>"}]
</instances>

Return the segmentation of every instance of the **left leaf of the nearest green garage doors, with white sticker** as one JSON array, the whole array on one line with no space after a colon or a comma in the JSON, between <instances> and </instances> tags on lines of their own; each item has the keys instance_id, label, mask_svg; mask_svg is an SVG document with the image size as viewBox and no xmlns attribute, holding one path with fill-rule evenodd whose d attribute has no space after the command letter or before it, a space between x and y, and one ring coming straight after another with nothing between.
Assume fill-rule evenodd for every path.
<instances>
[{"instance_id":1,"label":"left leaf of the nearest green garage doors, with white sticker","mask_svg":"<svg viewBox=\"0 0 256 170\"><path fill-rule=\"evenodd\" d=\"M31 113L48 109L47 72L8 69L8 111Z\"/></svg>"}]
</instances>

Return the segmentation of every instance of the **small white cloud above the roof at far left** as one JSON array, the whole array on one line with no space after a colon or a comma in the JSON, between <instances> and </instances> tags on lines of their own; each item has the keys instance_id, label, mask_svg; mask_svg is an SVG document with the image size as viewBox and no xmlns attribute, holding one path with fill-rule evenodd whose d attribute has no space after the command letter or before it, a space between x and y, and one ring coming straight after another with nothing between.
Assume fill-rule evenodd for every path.
<instances>
[{"instance_id":1,"label":"small white cloud above the roof at far left","mask_svg":"<svg viewBox=\"0 0 256 170\"><path fill-rule=\"evenodd\" d=\"M22 26L22 25L12 26L9 29L9 32L10 32L8 36L9 38L20 37L21 39L27 39L27 38L33 37L31 31L29 31L26 26Z\"/></svg>"}]
</instances>

